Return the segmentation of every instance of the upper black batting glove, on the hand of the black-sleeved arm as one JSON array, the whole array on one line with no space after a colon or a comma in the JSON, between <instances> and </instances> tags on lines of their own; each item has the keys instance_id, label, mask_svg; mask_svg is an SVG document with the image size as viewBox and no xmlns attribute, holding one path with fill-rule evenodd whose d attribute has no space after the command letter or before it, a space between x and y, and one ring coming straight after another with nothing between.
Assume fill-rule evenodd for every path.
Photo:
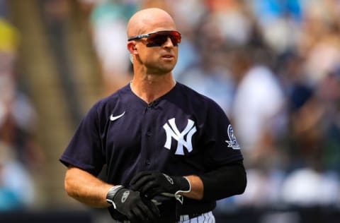
<instances>
[{"instance_id":1,"label":"upper black batting glove, on the hand of the black-sleeved arm","mask_svg":"<svg viewBox=\"0 0 340 223\"><path fill-rule=\"evenodd\" d=\"M190 192L191 185L183 176L168 176L159 171L142 171L132 178L130 185L135 191L152 199L156 195L172 196L183 203L179 192Z\"/></svg>"}]
</instances>

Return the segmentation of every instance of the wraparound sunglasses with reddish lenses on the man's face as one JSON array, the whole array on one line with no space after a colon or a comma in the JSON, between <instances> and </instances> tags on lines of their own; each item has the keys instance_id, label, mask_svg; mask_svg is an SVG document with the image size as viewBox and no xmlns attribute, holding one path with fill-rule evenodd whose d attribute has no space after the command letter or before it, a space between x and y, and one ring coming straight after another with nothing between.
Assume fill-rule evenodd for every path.
<instances>
[{"instance_id":1,"label":"wraparound sunglasses with reddish lenses on the man's face","mask_svg":"<svg viewBox=\"0 0 340 223\"><path fill-rule=\"evenodd\" d=\"M139 40L142 38L147 38L147 47L161 47L166 40L170 38L172 44L176 47L181 42L181 33L176 30L161 30L156 32L150 32L147 34L137 35L135 37L130 37L130 40Z\"/></svg>"}]
</instances>

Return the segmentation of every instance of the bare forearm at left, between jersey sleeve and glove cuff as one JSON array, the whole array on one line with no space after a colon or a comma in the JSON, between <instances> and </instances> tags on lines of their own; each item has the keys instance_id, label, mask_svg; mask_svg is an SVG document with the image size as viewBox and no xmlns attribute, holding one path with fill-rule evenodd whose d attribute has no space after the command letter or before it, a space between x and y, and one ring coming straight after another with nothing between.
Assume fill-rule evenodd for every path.
<instances>
[{"instance_id":1,"label":"bare forearm at left, between jersey sleeve and glove cuff","mask_svg":"<svg viewBox=\"0 0 340 223\"><path fill-rule=\"evenodd\" d=\"M108 207L106 193L113 186L77 167L69 167L64 179L65 191L91 207Z\"/></svg>"}]
</instances>

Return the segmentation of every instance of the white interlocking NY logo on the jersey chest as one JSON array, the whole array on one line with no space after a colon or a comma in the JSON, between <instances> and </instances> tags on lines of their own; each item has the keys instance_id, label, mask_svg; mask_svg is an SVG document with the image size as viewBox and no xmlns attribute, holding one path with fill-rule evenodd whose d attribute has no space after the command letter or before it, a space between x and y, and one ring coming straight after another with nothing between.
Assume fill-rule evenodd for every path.
<instances>
[{"instance_id":1,"label":"white interlocking NY logo on the jersey chest","mask_svg":"<svg viewBox=\"0 0 340 223\"><path fill-rule=\"evenodd\" d=\"M188 124L186 125L186 128L184 128L182 132L180 132L179 129L177 128L175 118L169 119L169 124L165 123L163 126L163 128L166 131L166 142L164 147L170 150L171 138L174 138L178 142L177 149L175 152L176 155L184 155L183 146L186 147L186 150L188 150L188 152L191 152L191 150L193 150L193 145L191 144L191 137L193 137L193 134L196 133L196 126L194 126L194 122L188 119ZM185 135L186 139L184 138Z\"/></svg>"}]
</instances>

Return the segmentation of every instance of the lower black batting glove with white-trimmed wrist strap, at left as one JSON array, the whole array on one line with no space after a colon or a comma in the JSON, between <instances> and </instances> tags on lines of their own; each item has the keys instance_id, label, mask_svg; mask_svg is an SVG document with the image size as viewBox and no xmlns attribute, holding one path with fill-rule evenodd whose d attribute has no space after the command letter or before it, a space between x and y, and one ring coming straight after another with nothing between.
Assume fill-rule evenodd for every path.
<instances>
[{"instance_id":1,"label":"lower black batting glove with white-trimmed wrist strap, at left","mask_svg":"<svg viewBox=\"0 0 340 223\"><path fill-rule=\"evenodd\" d=\"M158 207L151 200L142 198L139 191L131 191L124 186L111 188L106 195L106 201L131 223L157 222L160 217Z\"/></svg>"}]
</instances>

